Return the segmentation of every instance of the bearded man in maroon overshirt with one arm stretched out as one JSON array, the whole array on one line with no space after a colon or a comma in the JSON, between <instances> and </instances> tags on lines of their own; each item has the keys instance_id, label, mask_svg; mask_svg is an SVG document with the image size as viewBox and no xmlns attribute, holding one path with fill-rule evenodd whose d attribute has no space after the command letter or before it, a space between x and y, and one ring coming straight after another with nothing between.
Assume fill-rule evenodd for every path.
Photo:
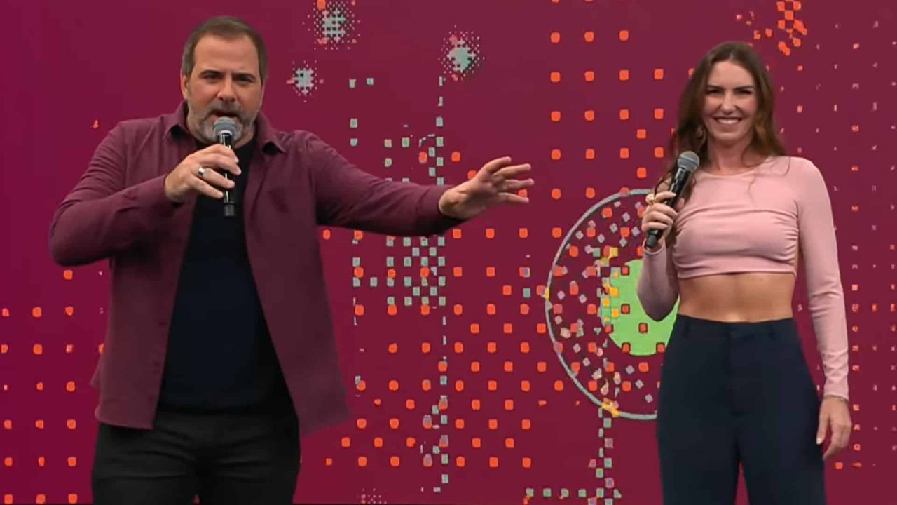
<instances>
[{"instance_id":1,"label":"bearded man in maroon overshirt with one arm stretched out","mask_svg":"<svg viewBox=\"0 0 897 505\"><path fill-rule=\"evenodd\" d=\"M91 380L99 505L289 503L299 431L347 413L316 226L431 235L527 202L530 167L507 157L450 188L364 173L309 132L274 129L259 112L265 76L256 31L204 22L178 110L112 128L53 217L58 263L109 258L112 274ZM222 117L233 150L216 143Z\"/></svg>"}]
</instances>

